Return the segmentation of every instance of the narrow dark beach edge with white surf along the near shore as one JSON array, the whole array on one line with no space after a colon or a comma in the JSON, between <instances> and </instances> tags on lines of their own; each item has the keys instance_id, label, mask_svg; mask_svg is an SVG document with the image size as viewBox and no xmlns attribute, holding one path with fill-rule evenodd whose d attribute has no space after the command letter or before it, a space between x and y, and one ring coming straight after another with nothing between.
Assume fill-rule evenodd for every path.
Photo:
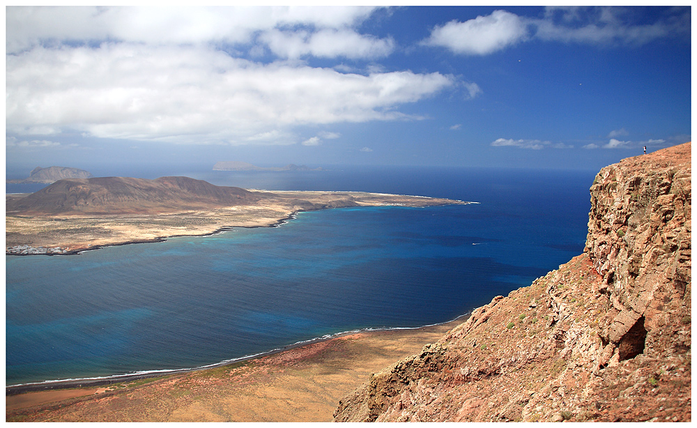
<instances>
[{"instance_id":1,"label":"narrow dark beach edge with white surf along the near shore","mask_svg":"<svg viewBox=\"0 0 697 428\"><path fill-rule=\"evenodd\" d=\"M341 337L346 337L349 335L355 335L360 333L376 333L376 332L388 332L397 330L422 330L424 328L445 326L450 323L463 323L470 316L470 312L466 312L457 318L450 321L445 321L443 323L428 324L426 326L419 327L392 327L392 328L362 328L358 330L348 330L340 333L334 333L332 335L325 335L322 337L314 337L313 339L308 339L305 341L296 342L281 348L271 349L270 351L264 351L251 356L243 356L240 358L231 358L229 360L223 360L221 362L215 362L210 365L204 365L200 367L190 367L184 369L152 369L146 372L135 372L127 374L114 374L111 376L95 376L91 378L77 378L77 379L56 379L52 381L42 381L42 382L32 382L32 383L20 383L17 385L6 385L5 395L20 395L26 392L39 392L47 390L64 390L73 388L94 388L97 386L104 385L114 385L115 383L124 383L138 381L141 379L151 379L159 378L164 376L173 376L176 374L185 374L191 372L201 372L208 369L216 369L219 367L227 367L230 365L236 365L240 362L247 362L250 360L256 360L257 358L264 358L267 356L273 356L279 353L284 353L286 351L291 351L292 349L300 348L302 346L308 346L312 344L317 344L321 342L328 342L334 339L339 339Z\"/></svg>"}]
</instances>

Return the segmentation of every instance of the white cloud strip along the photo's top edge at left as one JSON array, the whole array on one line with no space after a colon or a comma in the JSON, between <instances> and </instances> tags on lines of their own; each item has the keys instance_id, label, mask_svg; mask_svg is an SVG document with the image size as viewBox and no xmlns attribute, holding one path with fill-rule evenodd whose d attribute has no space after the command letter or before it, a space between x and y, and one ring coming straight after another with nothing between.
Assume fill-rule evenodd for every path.
<instances>
[{"instance_id":1,"label":"white cloud strip along the photo's top edge at left","mask_svg":"<svg viewBox=\"0 0 697 428\"><path fill-rule=\"evenodd\" d=\"M374 12L366 7L8 7L6 46L18 52L57 40L151 44L250 43L257 31L285 26L342 29Z\"/></svg>"}]
</instances>

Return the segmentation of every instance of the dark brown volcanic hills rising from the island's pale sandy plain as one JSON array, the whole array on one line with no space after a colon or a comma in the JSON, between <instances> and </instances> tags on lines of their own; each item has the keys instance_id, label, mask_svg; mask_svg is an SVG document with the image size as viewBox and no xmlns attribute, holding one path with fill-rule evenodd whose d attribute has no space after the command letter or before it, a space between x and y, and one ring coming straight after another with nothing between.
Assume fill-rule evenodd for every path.
<instances>
[{"instance_id":1,"label":"dark brown volcanic hills rising from the island's pale sandy plain","mask_svg":"<svg viewBox=\"0 0 697 428\"><path fill-rule=\"evenodd\" d=\"M6 213L123 214L164 213L253 204L259 196L188 177L155 180L127 177L65 179L27 197L8 200Z\"/></svg>"}]
</instances>

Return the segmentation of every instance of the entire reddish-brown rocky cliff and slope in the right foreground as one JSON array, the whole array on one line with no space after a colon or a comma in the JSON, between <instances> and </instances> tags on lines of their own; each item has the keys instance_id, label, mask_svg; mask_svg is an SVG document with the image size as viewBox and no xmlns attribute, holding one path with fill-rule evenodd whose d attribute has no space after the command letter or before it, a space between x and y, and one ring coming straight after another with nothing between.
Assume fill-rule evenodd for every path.
<instances>
[{"instance_id":1,"label":"entire reddish-brown rocky cliff and slope in the right foreground","mask_svg":"<svg viewBox=\"0 0 697 428\"><path fill-rule=\"evenodd\" d=\"M691 144L597 174L583 254L372 374L337 421L689 421Z\"/></svg>"}]
</instances>

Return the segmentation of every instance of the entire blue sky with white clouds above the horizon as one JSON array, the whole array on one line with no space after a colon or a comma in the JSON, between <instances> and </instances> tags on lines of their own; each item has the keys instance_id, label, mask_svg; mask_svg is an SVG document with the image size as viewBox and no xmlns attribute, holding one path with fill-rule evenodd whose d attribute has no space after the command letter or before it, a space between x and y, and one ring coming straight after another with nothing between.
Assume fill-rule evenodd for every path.
<instances>
[{"instance_id":1,"label":"entire blue sky with white clouds above the horizon","mask_svg":"<svg viewBox=\"0 0 697 428\"><path fill-rule=\"evenodd\" d=\"M599 169L691 140L683 7L24 7L6 172Z\"/></svg>"}]
</instances>

